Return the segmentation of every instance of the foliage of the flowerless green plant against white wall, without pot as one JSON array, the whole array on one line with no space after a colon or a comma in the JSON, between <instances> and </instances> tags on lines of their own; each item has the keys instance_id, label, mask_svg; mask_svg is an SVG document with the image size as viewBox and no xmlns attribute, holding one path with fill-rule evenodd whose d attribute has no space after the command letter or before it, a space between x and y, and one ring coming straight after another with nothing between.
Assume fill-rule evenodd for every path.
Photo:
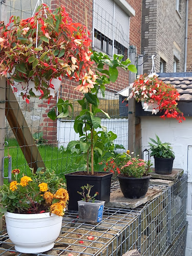
<instances>
[{"instance_id":1,"label":"foliage of the flowerless green plant against white wall, without pot","mask_svg":"<svg viewBox=\"0 0 192 256\"><path fill-rule=\"evenodd\" d=\"M167 142L162 143L157 135L156 135L156 139L157 141L150 138L150 140L154 144L148 142L148 144L150 145L151 156L162 157L162 158L175 157L172 147L170 146L170 143L167 143Z\"/></svg>"}]
</instances>

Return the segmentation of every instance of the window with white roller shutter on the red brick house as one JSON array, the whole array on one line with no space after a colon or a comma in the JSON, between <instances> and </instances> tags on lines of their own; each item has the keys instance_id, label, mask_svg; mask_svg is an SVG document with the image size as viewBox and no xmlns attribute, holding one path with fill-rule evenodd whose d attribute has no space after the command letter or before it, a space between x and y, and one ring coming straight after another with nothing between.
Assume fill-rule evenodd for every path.
<instances>
[{"instance_id":1,"label":"window with white roller shutter on the red brick house","mask_svg":"<svg viewBox=\"0 0 192 256\"><path fill-rule=\"evenodd\" d=\"M129 23L127 15L113 0L95 0L93 48L110 57L113 54L128 56Z\"/></svg>"}]
</instances>

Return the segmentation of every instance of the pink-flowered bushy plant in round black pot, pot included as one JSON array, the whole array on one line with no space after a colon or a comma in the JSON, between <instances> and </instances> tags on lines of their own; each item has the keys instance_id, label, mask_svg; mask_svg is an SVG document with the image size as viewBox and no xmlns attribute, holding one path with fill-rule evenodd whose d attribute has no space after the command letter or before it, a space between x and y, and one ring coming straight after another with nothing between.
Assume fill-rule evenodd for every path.
<instances>
[{"instance_id":1,"label":"pink-flowered bushy plant in round black pot, pot included","mask_svg":"<svg viewBox=\"0 0 192 256\"><path fill-rule=\"evenodd\" d=\"M123 196L132 199L144 197L151 178L151 161L146 162L138 157L132 158L123 153L116 158L116 164L118 167L115 167L113 172L118 174L117 178ZM114 163L113 166L115 166Z\"/></svg>"}]
</instances>

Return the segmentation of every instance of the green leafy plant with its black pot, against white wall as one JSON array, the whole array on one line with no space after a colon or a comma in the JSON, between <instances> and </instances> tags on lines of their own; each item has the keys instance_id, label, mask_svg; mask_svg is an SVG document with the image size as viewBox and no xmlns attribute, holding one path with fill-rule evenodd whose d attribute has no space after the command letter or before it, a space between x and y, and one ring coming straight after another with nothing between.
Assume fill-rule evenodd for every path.
<instances>
[{"instance_id":1,"label":"green leafy plant with its black pot, against white wall","mask_svg":"<svg viewBox=\"0 0 192 256\"><path fill-rule=\"evenodd\" d=\"M155 172L157 174L171 174L175 159L172 147L170 146L170 143L162 143L157 135L156 139L157 141L150 138L154 144L150 142L148 143L150 144L150 156L153 156L155 159Z\"/></svg>"}]
</instances>

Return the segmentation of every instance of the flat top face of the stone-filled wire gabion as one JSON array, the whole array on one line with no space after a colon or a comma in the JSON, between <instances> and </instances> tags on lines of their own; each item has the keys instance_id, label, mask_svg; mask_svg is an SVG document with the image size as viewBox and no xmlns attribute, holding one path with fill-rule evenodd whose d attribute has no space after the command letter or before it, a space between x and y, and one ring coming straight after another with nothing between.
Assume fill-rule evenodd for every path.
<instances>
[{"instance_id":1,"label":"flat top face of the stone-filled wire gabion","mask_svg":"<svg viewBox=\"0 0 192 256\"><path fill-rule=\"evenodd\" d=\"M121 244L118 237L128 226L129 235L135 233L136 238L139 229L139 212L105 207L103 220L96 225L79 222L77 214L66 212L54 248L48 252L34 253L34 255L68 255L69 253L73 253L74 256L82 254L111 255L120 249ZM130 228L131 226L132 228ZM90 236L93 237L93 240L89 240ZM0 255L10 255L10 252L15 252L16 254L11 254L14 256L26 255L14 250L6 232L2 234L1 246Z\"/></svg>"}]
</instances>

